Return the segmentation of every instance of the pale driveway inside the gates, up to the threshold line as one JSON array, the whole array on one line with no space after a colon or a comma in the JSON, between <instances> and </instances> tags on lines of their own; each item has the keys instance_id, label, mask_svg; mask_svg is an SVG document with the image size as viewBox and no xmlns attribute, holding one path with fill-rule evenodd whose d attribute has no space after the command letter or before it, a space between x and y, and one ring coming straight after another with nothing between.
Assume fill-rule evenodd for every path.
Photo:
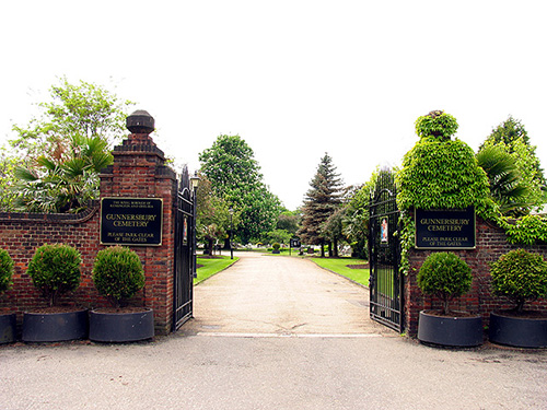
<instances>
[{"instance_id":1,"label":"pale driveway inside the gates, up to the threshold line","mask_svg":"<svg viewBox=\"0 0 547 410\"><path fill-rule=\"evenodd\" d=\"M310 260L241 254L228 272L195 288L195 332L391 333L368 320L369 291Z\"/></svg>"}]
</instances>

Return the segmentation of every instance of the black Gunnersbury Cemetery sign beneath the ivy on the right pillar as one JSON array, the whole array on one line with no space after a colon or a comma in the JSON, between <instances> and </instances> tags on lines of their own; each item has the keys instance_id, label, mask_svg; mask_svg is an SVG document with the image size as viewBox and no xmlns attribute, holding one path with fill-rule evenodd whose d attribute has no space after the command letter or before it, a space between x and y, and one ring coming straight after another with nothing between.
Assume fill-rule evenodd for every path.
<instances>
[{"instance_id":1,"label":"black Gunnersbury Cemetery sign beneath the ivy on the right pillar","mask_svg":"<svg viewBox=\"0 0 547 410\"><path fill-rule=\"evenodd\" d=\"M475 208L417 209L415 219L417 248L475 249Z\"/></svg>"}]
</instances>

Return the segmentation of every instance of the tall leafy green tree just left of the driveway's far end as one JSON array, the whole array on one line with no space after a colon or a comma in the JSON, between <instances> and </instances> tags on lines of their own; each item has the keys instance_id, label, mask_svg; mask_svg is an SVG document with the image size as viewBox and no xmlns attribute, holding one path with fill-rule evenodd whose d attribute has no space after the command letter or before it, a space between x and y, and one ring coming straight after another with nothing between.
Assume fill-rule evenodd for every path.
<instances>
[{"instance_id":1,"label":"tall leafy green tree just left of the driveway's far end","mask_svg":"<svg viewBox=\"0 0 547 410\"><path fill-rule=\"evenodd\" d=\"M214 195L240 213L236 235L243 243L275 229L281 202L263 183L254 152L240 136L218 137L199 161Z\"/></svg>"}]
</instances>

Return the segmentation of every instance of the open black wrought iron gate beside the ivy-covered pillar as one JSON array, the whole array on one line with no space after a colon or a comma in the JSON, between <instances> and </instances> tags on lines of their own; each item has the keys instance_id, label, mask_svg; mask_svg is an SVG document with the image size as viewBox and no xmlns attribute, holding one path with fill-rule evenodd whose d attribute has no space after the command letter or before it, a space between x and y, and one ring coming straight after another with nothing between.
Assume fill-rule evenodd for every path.
<instances>
[{"instance_id":1,"label":"open black wrought iron gate beside the ivy-covered pillar","mask_svg":"<svg viewBox=\"0 0 547 410\"><path fill-rule=\"evenodd\" d=\"M399 273L399 210L394 174L382 171L370 202L369 262L371 318L404 329L403 277Z\"/></svg>"}]
</instances>

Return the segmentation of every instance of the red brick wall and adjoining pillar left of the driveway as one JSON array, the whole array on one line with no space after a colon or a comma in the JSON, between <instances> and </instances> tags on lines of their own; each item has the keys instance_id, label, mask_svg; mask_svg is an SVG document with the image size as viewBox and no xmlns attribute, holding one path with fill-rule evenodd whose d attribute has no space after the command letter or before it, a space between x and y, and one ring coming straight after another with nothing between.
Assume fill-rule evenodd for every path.
<instances>
[{"instance_id":1,"label":"red brick wall and adjoining pillar left of the driveway","mask_svg":"<svg viewBox=\"0 0 547 410\"><path fill-rule=\"evenodd\" d=\"M101 174L101 198L135 197L163 200L161 246L131 246L139 255L146 285L131 305L154 309L158 335L167 333L173 318L175 173L164 165L164 154L146 133L131 133L114 149L114 164ZM26 274L30 259L45 243L74 246L82 255L79 289L60 302L88 308L106 306L91 279L100 245L100 202L79 214L0 213L0 247L15 263L13 286L0 300L0 307L22 313L46 305ZM22 315L19 315L22 320Z\"/></svg>"}]
</instances>

